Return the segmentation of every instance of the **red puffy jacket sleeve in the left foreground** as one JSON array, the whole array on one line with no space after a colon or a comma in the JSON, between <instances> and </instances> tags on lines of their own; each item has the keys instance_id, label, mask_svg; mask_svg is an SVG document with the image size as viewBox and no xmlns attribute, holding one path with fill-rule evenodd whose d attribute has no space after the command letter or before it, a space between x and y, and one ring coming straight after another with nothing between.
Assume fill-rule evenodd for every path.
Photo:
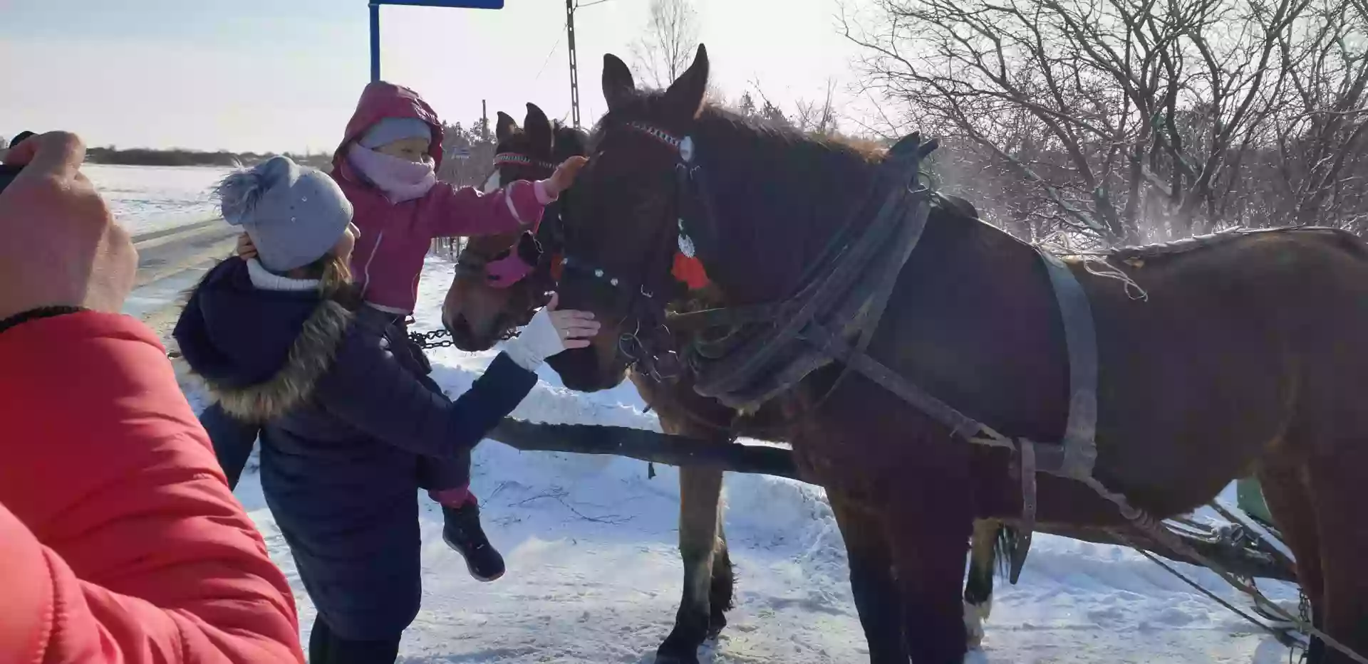
<instances>
[{"instance_id":1,"label":"red puffy jacket sleeve in the left foreground","mask_svg":"<svg viewBox=\"0 0 1368 664\"><path fill-rule=\"evenodd\" d=\"M304 661L289 583L146 327L26 322L0 366L0 661Z\"/></svg>"}]
</instances>

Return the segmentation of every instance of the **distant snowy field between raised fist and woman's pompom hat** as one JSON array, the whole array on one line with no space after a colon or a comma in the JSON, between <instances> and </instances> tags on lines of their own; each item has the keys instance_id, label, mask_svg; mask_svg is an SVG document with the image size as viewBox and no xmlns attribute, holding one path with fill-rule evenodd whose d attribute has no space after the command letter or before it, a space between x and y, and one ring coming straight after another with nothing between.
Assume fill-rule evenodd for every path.
<instances>
[{"instance_id":1,"label":"distant snowy field between raised fist and woman's pompom hat","mask_svg":"<svg viewBox=\"0 0 1368 664\"><path fill-rule=\"evenodd\" d=\"M209 189L231 168L85 164L114 219L129 232L156 231L219 216Z\"/></svg>"}]
</instances>

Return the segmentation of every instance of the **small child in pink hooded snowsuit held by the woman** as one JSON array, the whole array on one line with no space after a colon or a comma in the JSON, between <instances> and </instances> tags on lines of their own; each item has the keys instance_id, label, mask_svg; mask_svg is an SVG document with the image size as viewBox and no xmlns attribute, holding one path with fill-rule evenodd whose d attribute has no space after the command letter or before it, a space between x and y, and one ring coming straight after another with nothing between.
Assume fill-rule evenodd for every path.
<instances>
[{"instance_id":1,"label":"small child in pink hooded snowsuit held by the woman","mask_svg":"<svg viewBox=\"0 0 1368 664\"><path fill-rule=\"evenodd\" d=\"M332 156L331 172L352 202L356 210L352 221L361 231L352 254L352 275L368 305L361 313L382 317L406 332L423 261L434 238L505 234L535 224L546 205L569 187L584 161L572 157L546 180L510 182L487 194L439 182L442 123L432 107L408 87L383 81L368 85ZM238 253L249 257L254 247L239 240ZM416 344L394 352L413 352L427 366ZM430 389L440 389L430 380L425 383ZM201 415L205 418L220 419L222 414L207 411ZM241 456L245 463L254 437L252 432L246 451L231 454L220 449L228 444L215 440L220 462L228 466L230 458ZM226 471L230 478L237 477L227 467ZM419 484L442 506L443 540L465 557L471 575L480 581L502 577L503 557L486 537L479 503L469 490L469 455L424 456L417 471Z\"/></svg>"}]
</instances>

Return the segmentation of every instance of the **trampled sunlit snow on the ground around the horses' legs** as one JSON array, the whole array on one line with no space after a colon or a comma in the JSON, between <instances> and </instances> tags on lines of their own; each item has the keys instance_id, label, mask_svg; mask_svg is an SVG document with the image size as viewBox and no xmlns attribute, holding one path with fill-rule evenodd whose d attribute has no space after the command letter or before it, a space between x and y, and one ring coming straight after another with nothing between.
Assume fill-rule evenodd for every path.
<instances>
[{"instance_id":1,"label":"trampled sunlit snow on the ground around the horses' legs","mask_svg":"<svg viewBox=\"0 0 1368 664\"><path fill-rule=\"evenodd\" d=\"M416 329L439 328L451 266L430 260ZM466 389L492 352L431 352L434 377ZM201 395L187 396L202 407ZM564 389L554 372L514 413L547 422L658 430L631 385L595 395ZM472 579L440 540L440 515L423 504L423 611L399 661L650 663L673 623L681 570L676 544L676 473L646 463L517 452L486 441L475 454L475 490L509 574ZM313 608L261 497L254 471L238 497L276 563L290 575L308 637ZM1233 496L1231 496L1233 499ZM847 586L845 553L821 489L781 478L726 478L726 530L737 568L737 605L703 661L858 663L865 638ZM1213 574L1181 566L1226 598ZM1265 590L1279 600L1293 590ZM1238 603L1246 605L1245 603ZM997 583L985 652L971 661L1239 663L1287 661L1287 650L1140 555L1116 547L1037 536L1021 583Z\"/></svg>"}]
</instances>

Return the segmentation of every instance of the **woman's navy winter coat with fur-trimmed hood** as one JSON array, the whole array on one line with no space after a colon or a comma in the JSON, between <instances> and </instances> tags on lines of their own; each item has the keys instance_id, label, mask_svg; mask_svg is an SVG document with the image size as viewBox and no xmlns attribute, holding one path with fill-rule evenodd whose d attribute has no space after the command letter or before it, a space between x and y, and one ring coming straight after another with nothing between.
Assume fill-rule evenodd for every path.
<instances>
[{"instance_id":1,"label":"woman's navy winter coat with fur-trimmed hood","mask_svg":"<svg viewBox=\"0 0 1368 664\"><path fill-rule=\"evenodd\" d=\"M315 291L259 290L241 258L205 276L175 328L223 413L260 426L267 504L346 639L395 638L417 615L420 455L468 454L536 384L499 354L453 403L398 335Z\"/></svg>"}]
</instances>

